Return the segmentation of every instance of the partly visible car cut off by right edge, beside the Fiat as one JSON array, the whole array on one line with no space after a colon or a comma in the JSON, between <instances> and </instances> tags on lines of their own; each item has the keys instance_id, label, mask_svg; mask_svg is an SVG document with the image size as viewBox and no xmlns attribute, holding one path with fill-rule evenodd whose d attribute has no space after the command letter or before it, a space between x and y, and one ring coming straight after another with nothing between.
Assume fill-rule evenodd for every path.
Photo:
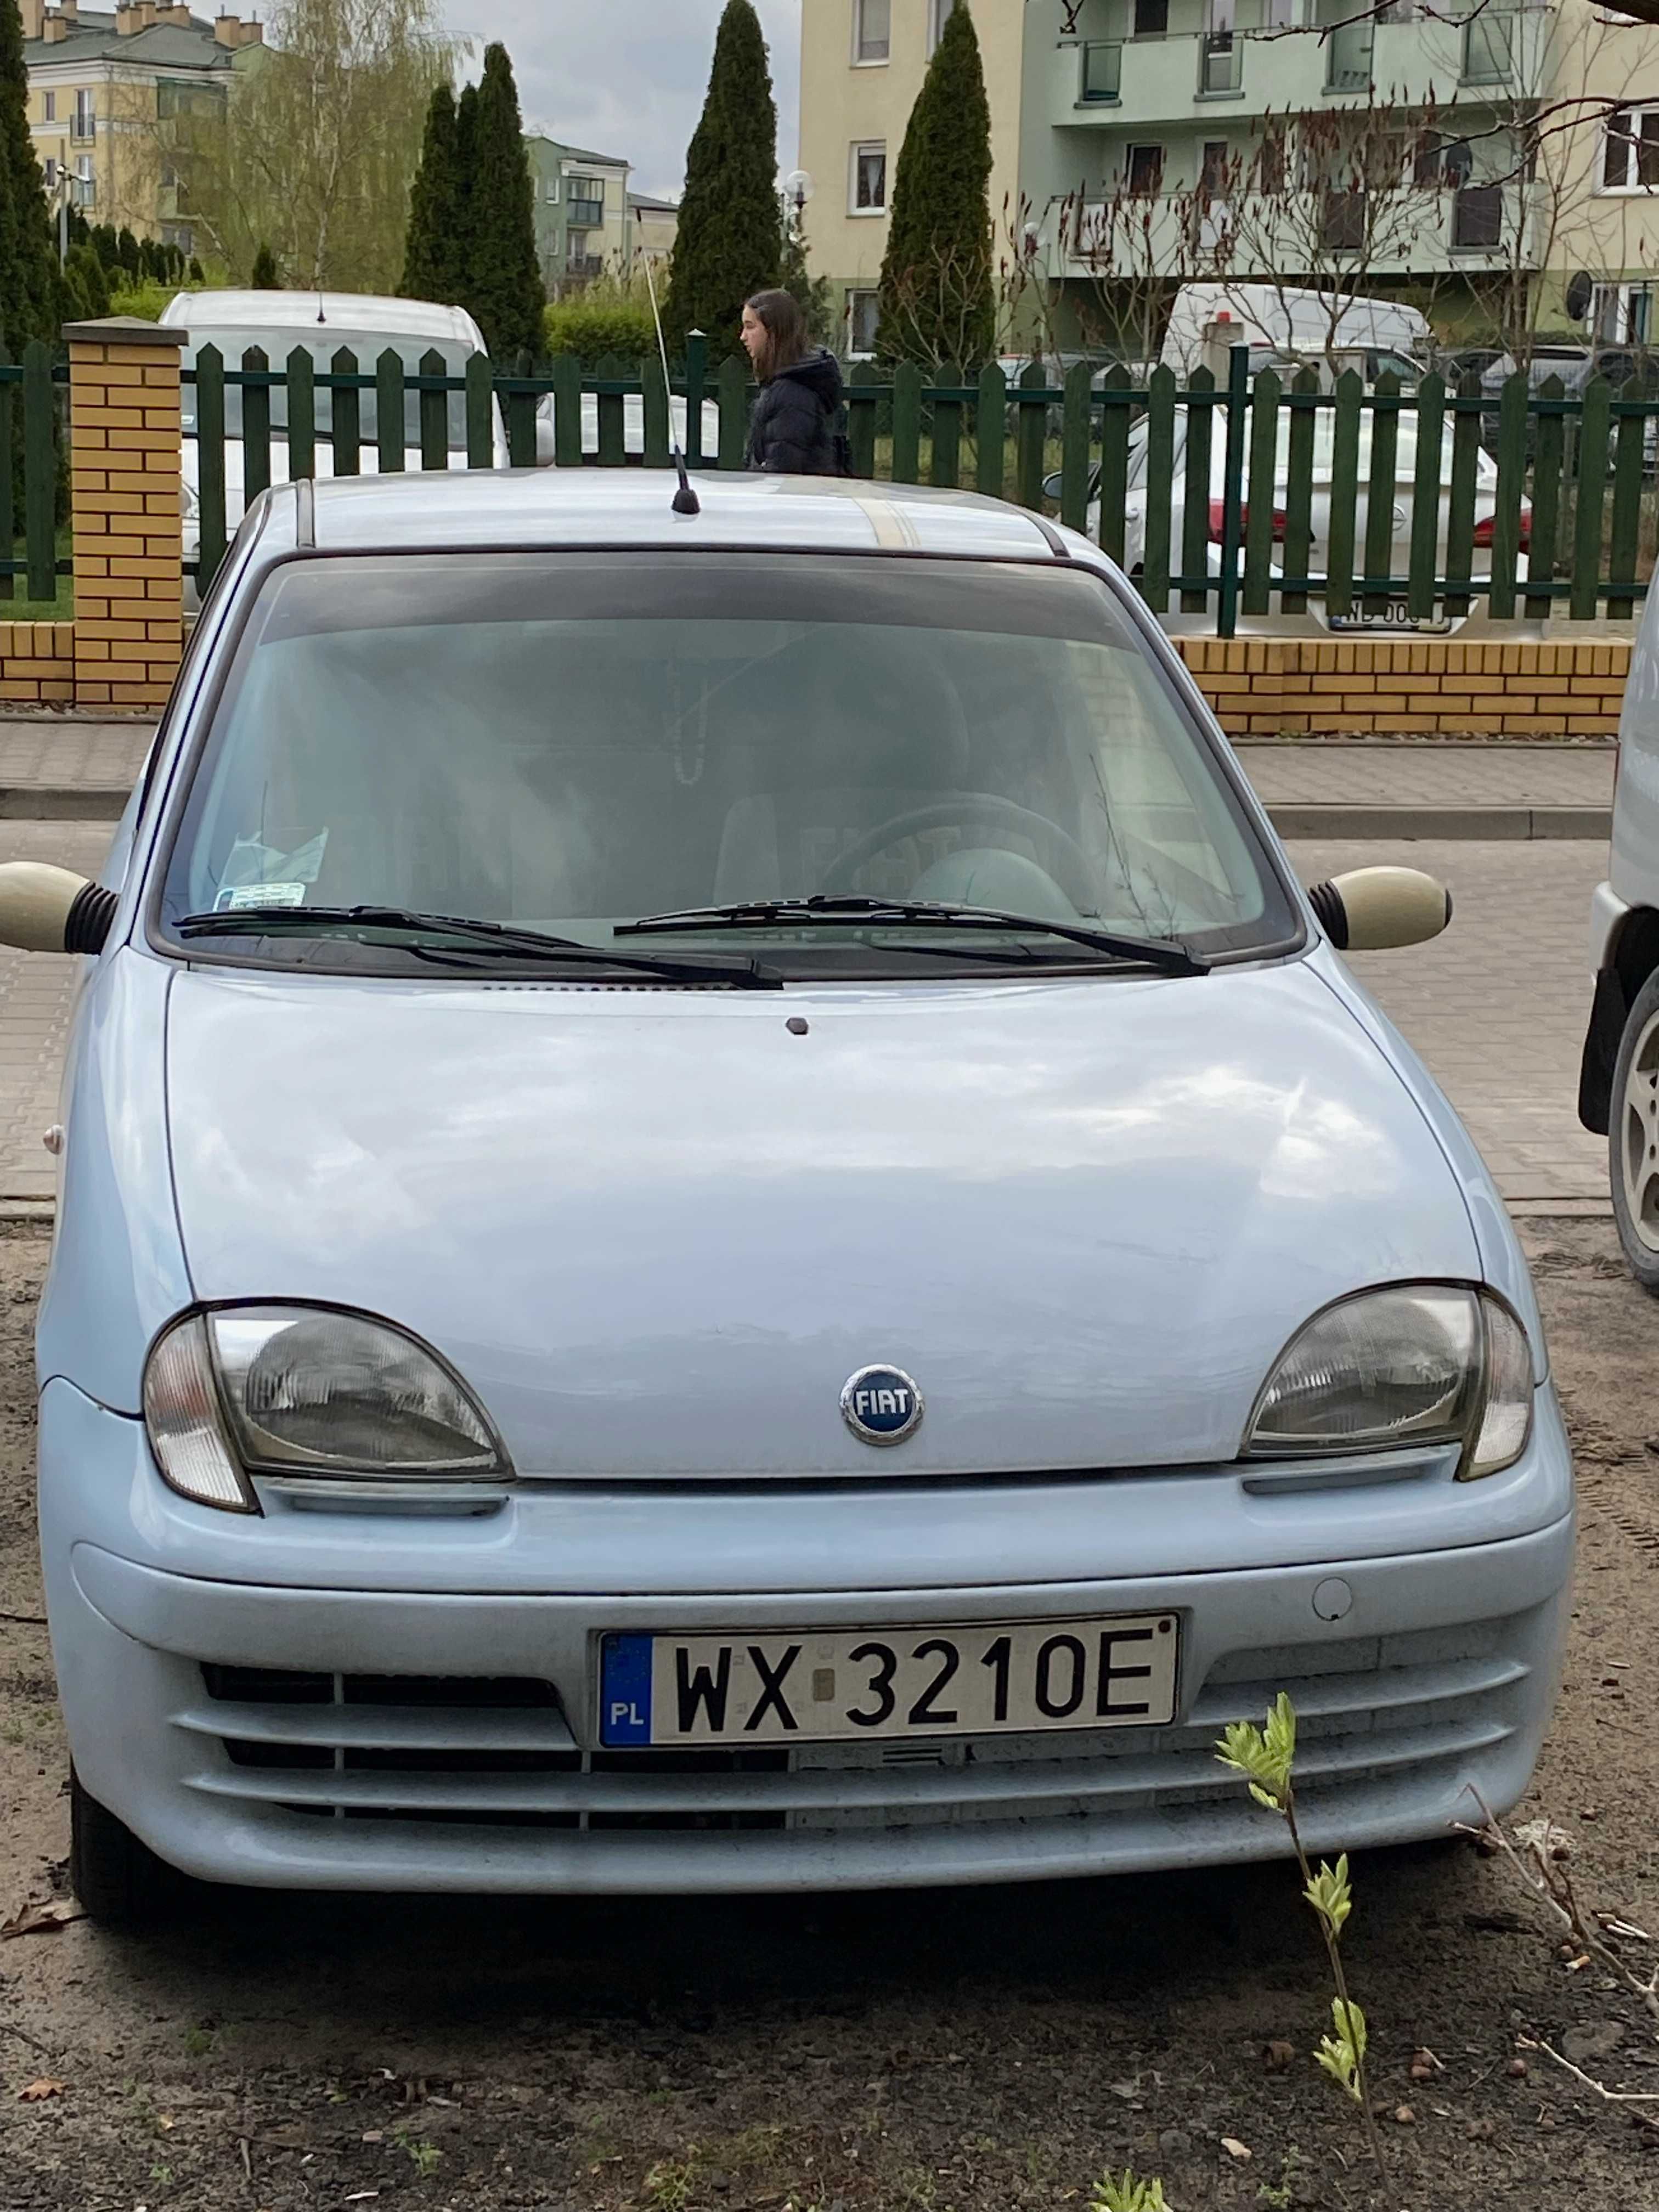
<instances>
[{"instance_id":1,"label":"partly visible car cut off by right edge, beside the Fiat","mask_svg":"<svg viewBox=\"0 0 1659 2212\"><path fill-rule=\"evenodd\" d=\"M1590 900L1595 1002L1579 1121L1608 1139L1613 1219L1659 1296L1659 593L1648 593L1619 714L1608 880Z\"/></svg>"}]
</instances>

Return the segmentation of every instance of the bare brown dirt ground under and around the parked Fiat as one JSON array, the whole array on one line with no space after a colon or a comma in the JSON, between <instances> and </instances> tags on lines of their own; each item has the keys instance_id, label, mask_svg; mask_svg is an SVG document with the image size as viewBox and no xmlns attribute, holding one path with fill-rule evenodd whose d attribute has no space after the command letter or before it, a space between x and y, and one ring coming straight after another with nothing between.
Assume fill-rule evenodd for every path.
<instances>
[{"instance_id":1,"label":"bare brown dirt ground under and around the parked Fiat","mask_svg":"<svg viewBox=\"0 0 1659 2212\"><path fill-rule=\"evenodd\" d=\"M1604 1223L1537 1223L1531 1248L1584 1533L1526 1812L1571 1832L1588 1900L1659 1933L1659 1307ZM0 1243L0 1920L66 1900L31 1502L44 1259L35 1237ZM1323 1955L1270 1865L765 1902L223 1893L146 1942L84 1920L2 1940L0 2203L1011 2212L1084 2205L1126 2163L1179 2212L1657 2203L1641 2106L1540 2053L1511 2070L1517 2037L1544 2035L1659 2115L1655 2020L1573 1971L1467 1845L1363 1860L1356 1891L1383 2177L1310 2059ZM1292 2046L1283 2070L1267 2044ZM31 2097L42 2081L60 2088Z\"/></svg>"}]
</instances>

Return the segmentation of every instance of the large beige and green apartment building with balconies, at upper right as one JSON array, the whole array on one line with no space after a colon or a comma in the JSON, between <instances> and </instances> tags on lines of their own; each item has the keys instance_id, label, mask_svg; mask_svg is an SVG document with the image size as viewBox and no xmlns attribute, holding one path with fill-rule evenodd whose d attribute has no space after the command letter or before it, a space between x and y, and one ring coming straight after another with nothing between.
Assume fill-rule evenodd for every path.
<instances>
[{"instance_id":1,"label":"large beige and green apartment building with balconies, at upper right","mask_svg":"<svg viewBox=\"0 0 1659 2212\"><path fill-rule=\"evenodd\" d=\"M1449 338L1646 332L1659 31L1593 0L803 0L807 239L854 352L940 4L973 9L1002 257L1062 343L1139 352L1217 276L1398 292Z\"/></svg>"}]
</instances>

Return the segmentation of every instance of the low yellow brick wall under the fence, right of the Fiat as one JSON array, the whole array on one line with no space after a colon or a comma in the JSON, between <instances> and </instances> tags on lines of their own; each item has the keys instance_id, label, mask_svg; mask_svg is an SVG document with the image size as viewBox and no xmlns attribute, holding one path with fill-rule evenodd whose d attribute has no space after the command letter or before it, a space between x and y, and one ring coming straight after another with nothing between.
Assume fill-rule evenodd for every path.
<instances>
[{"instance_id":1,"label":"low yellow brick wall under the fence, right of the Fiat","mask_svg":"<svg viewBox=\"0 0 1659 2212\"><path fill-rule=\"evenodd\" d=\"M1228 737L1615 737L1630 646L1181 637Z\"/></svg>"}]
</instances>

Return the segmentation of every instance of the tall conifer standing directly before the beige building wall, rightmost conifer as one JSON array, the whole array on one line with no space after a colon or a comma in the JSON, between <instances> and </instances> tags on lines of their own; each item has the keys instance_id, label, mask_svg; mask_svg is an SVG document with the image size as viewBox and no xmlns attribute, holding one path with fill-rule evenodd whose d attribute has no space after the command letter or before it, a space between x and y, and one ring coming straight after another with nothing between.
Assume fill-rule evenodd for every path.
<instances>
[{"instance_id":1,"label":"tall conifer standing directly before the beige building wall, rightmost conifer","mask_svg":"<svg viewBox=\"0 0 1659 2212\"><path fill-rule=\"evenodd\" d=\"M995 345L991 104L967 0L951 9L894 173L876 354L978 369Z\"/></svg>"}]
</instances>

